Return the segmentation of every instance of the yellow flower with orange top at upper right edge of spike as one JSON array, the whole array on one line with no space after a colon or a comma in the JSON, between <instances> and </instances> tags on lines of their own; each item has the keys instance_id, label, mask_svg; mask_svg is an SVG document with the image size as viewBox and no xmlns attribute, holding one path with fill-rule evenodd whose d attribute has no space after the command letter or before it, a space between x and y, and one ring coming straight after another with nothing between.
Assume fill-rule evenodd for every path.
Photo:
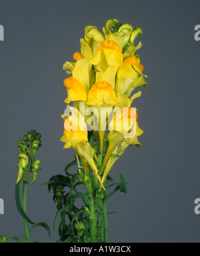
<instances>
[{"instance_id":1,"label":"yellow flower with orange top at upper right edge of spike","mask_svg":"<svg viewBox=\"0 0 200 256\"><path fill-rule=\"evenodd\" d=\"M133 89L136 87L147 87L143 78L143 65L139 58L128 57L123 61L123 66L117 71L117 80L115 85L116 93L123 93L130 97Z\"/></svg>"}]
</instances>

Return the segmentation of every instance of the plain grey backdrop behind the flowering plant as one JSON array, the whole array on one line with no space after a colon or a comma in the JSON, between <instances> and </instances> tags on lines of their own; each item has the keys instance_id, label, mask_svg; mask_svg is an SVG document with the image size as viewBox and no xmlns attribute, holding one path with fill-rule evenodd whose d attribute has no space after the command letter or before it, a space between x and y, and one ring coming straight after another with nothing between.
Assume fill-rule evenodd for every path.
<instances>
[{"instance_id":1,"label":"plain grey backdrop behind the flowering plant","mask_svg":"<svg viewBox=\"0 0 200 256\"><path fill-rule=\"evenodd\" d=\"M37 183L29 188L28 213L33 221L51 226L51 239L42 228L32 241L54 242L56 213L52 193L40 184L64 173L73 149L63 149L60 117L67 91L62 69L79 51L86 25L100 29L117 18L141 27L139 51L149 87L135 101L144 134L142 147L130 147L111 175L121 171L129 182L127 195L109 201L110 242L199 242L200 216L194 201L200 197L199 67L200 42L194 27L200 23L199 1L2 1L0 24L0 233L23 235L15 207L17 140L27 129L42 134L43 161Z\"/></svg>"}]
</instances>

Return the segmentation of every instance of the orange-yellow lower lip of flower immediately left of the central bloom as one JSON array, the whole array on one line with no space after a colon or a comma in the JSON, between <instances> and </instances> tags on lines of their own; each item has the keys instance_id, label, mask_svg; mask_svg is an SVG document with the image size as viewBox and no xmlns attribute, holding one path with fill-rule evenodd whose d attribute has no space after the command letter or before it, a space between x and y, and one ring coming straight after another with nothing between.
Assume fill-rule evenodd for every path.
<instances>
[{"instance_id":1,"label":"orange-yellow lower lip of flower immediately left of the central bloom","mask_svg":"<svg viewBox=\"0 0 200 256\"><path fill-rule=\"evenodd\" d=\"M87 101L87 91L85 91L85 88L80 81L74 77L69 77L65 79L64 85L67 88L68 93L65 103L70 103L71 101Z\"/></svg>"}]
</instances>

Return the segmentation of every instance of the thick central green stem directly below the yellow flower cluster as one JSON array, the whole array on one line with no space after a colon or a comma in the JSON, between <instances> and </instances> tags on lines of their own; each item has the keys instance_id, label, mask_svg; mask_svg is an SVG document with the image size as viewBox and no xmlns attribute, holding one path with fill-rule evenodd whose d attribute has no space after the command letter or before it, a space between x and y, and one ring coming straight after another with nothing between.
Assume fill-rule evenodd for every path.
<instances>
[{"instance_id":1,"label":"thick central green stem directly below the yellow flower cluster","mask_svg":"<svg viewBox=\"0 0 200 256\"><path fill-rule=\"evenodd\" d=\"M91 184L91 204L89 205L89 211L91 216L90 235L91 243L97 242L97 210L95 206L95 194L97 189L97 178L93 174L93 181Z\"/></svg>"}]
</instances>

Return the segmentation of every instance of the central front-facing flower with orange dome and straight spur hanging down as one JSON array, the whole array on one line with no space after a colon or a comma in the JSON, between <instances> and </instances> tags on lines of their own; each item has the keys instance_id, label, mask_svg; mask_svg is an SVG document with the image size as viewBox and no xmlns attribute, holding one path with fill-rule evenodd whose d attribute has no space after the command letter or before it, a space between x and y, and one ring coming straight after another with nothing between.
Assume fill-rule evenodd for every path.
<instances>
[{"instance_id":1,"label":"central front-facing flower with orange dome and straight spur hanging down","mask_svg":"<svg viewBox=\"0 0 200 256\"><path fill-rule=\"evenodd\" d=\"M97 107L98 113L96 114L96 116L99 119L99 137L102 152L108 111L107 108L113 107L114 105L118 104L113 87L109 83L107 83L107 81L98 81L93 85L93 87L91 87L88 94L88 101L86 104Z\"/></svg>"}]
</instances>

